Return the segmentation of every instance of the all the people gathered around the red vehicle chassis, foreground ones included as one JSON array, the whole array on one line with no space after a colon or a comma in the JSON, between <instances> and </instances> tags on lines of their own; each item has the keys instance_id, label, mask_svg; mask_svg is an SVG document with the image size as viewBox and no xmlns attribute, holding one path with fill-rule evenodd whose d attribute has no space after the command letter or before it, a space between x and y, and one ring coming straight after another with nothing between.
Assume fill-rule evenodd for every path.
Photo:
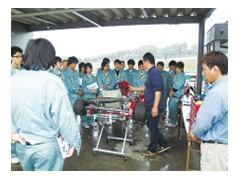
<instances>
[{"instance_id":1,"label":"all the people gathered around the red vehicle chassis, foreground ones included","mask_svg":"<svg viewBox=\"0 0 240 180\"><path fill-rule=\"evenodd\" d=\"M109 63L109 59L104 58L97 76L93 76L91 63L80 63L79 72L75 71L77 58L61 61L46 39L30 40L24 60L21 48L11 48L12 163L20 161L23 170L62 170L64 158L57 138L68 142L65 157L72 156L74 150L79 154L81 149L81 136L72 109L74 102L78 98L101 96L101 91L114 89L122 80L130 83L131 91L144 91L150 144L142 154L152 156L170 149L170 143L159 129L159 120L165 116L169 98L166 126L177 125L177 106L184 93L184 64L171 61L170 71L166 72L163 62L155 66L151 53L146 53L143 61L138 62L138 71L133 68L133 60L128 61L128 70L121 69L122 62L118 59L114 61L114 70L109 69ZM201 170L227 170L228 58L212 51L202 57L201 64L202 75L210 84L209 92L189 135L201 143ZM91 86L95 88L89 88L93 83L97 84ZM86 118L82 117L85 125ZM92 123L91 119L89 122Z\"/></svg>"}]
</instances>

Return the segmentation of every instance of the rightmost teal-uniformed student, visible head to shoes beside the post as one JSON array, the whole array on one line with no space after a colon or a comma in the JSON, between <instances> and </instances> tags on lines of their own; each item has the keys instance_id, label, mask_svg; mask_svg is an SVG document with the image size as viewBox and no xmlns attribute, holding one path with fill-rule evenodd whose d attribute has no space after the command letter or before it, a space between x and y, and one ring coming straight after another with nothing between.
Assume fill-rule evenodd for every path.
<instances>
[{"instance_id":1,"label":"rightmost teal-uniformed student, visible head to shoes beside the post","mask_svg":"<svg viewBox=\"0 0 240 180\"><path fill-rule=\"evenodd\" d=\"M186 81L184 70L184 63L179 61L176 64L176 74L173 76L172 88L169 92L168 102L168 122L166 127L176 127L178 125L178 102L184 94L184 85Z\"/></svg>"}]
</instances>

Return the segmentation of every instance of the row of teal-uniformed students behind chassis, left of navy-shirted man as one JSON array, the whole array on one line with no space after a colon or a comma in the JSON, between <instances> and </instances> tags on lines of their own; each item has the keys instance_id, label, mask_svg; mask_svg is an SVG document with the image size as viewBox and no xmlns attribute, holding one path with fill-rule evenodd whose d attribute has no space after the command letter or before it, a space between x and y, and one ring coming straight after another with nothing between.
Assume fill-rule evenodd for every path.
<instances>
[{"instance_id":1,"label":"row of teal-uniformed students behind chassis, left of navy-shirted man","mask_svg":"<svg viewBox=\"0 0 240 180\"><path fill-rule=\"evenodd\" d=\"M143 61L138 62L139 70L134 69L135 61L130 59L128 61L129 69L124 70L124 63L119 59L114 61L115 69L110 69L110 60L104 58L101 63L101 67L97 71L97 75L94 76L93 66L91 63L79 63L75 56L69 57L67 60L67 68L61 68L61 58L55 57L56 63L50 70L60 77L67 89L69 100L71 105L78 99L96 98L102 96L102 91L117 89L117 83L125 80L133 86L143 86L147 72L144 71ZM76 66L78 64L78 71ZM95 84L95 86L92 86ZM81 123L85 128L89 128L94 125L93 117L81 116Z\"/></svg>"}]
</instances>

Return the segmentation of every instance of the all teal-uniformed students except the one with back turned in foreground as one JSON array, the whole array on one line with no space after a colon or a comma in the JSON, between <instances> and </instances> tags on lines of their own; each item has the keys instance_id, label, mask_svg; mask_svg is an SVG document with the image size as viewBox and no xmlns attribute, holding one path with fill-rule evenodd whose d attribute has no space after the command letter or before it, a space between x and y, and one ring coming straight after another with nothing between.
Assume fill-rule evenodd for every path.
<instances>
[{"instance_id":1,"label":"all teal-uniformed students except the one with back turned in foreground","mask_svg":"<svg viewBox=\"0 0 240 180\"><path fill-rule=\"evenodd\" d=\"M17 71L24 69L22 49L16 46L12 47L11 57L11 74L13 75ZM78 71L76 71L77 64ZM60 57L55 56L53 65L44 70L49 71L61 79L67 90L71 107L73 107L74 102L78 99L96 98L102 96L102 91L104 90L118 88L116 84L123 80L127 81L132 87L142 87L145 85L147 71L144 69L143 60L138 61L138 70L134 69L135 61L133 59L128 60L127 70L124 70L124 61L120 61L119 59L114 61L115 68L113 70L109 68L109 65L110 60L104 58L101 67L98 69L96 76L94 76L92 74L93 66L91 63L79 63L75 56L69 57L68 60L62 60ZM184 64L172 60L169 63L169 72L167 72L163 70L164 63L160 61L157 63L157 68L161 72L164 81L165 96L162 97L164 99L164 112L162 118L166 118L167 98L169 97L169 119L166 120L166 126L176 127L178 122L177 104L178 100L183 95L185 84L185 75L183 72ZM97 86L93 86L91 89L88 88L94 83L97 84ZM77 119L76 115L75 119ZM93 117L81 116L81 124L85 128L93 127ZM16 149L15 146L16 144L12 143L12 163L18 162L16 153L14 152L14 149Z\"/></svg>"}]
</instances>

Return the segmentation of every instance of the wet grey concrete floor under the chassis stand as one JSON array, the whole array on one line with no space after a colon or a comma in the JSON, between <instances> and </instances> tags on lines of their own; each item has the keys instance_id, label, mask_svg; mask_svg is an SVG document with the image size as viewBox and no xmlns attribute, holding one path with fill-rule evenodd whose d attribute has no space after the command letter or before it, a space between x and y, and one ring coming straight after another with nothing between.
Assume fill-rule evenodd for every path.
<instances>
[{"instance_id":1,"label":"wet grey concrete floor under the chassis stand","mask_svg":"<svg viewBox=\"0 0 240 180\"><path fill-rule=\"evenodd\" d=\"M99 129L80 128L82 136L82 147L80 155L76 152L71 158L65 160L64 171L185 171L187 140L186 133L183 130L182 140L178 140L178 128L165 128L164 122L161 121L160 127L166 138L170 141L172 148L162 154L153 157L144 157L140 154L142 150L147 149L149 143L148 129L134 125L133 127L133 144L126 143L127 160L124 156L97 152L93 155L93 148L96 147L99 137ZM111 136L124 135L125 129L121 122L106 127L100 141L100 148L112 151L120 151L122 141L106 141L107 134ZM199 148L199 145L197 148ZM190 167L200 169L200 154L192 153ZM12 171L21 171L20 164L11 165Z\"/></svg>"}]
</instances>

